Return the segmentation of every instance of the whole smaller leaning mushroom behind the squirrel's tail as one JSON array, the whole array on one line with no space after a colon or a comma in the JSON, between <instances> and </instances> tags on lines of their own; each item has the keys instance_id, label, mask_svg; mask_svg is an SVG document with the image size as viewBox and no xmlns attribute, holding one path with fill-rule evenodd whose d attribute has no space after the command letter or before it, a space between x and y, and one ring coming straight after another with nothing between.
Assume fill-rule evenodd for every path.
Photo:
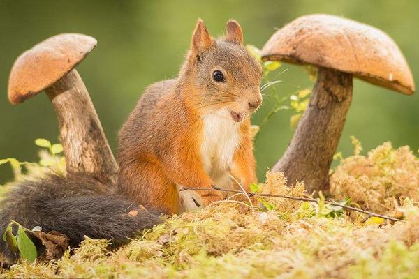
<instances>
[{"instance_id":1,"label":"whole smaller leaning mushroom behind the squirrel's tail","mask_svg":"<svg viewBox=\"0 0 419 279\"><path fill-rule=\"evenodd\" d=\"M59 121L68 174L115 181L117 163L86 86L75 66L96 46L76 33L53 36L20 55L10 72L8 98L19 104L45 90Z\"/></svg>"}]
</instances>

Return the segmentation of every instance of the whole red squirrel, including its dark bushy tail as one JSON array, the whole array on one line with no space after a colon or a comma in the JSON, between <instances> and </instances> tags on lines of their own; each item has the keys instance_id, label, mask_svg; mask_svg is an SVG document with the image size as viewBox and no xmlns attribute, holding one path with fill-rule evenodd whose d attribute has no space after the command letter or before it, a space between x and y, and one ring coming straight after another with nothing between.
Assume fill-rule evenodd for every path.
<instances>
[{"instance_id":1,"label":"whole red squirrel, including its dark bushy tail","mask_svg":"<svg viewBox=\"0 0 419 279\"><path fill-rule=\"evenodd\" d=\"M179 76L149 86L119 132L115 193L87 174L19 181L0 201L0 233L15 220L61 232L71 246L84 236L117 246L161 223L161 213L223 199L219 191L179 195L179 188L230 188L237 180L249 190L256 182L249 116L262 102L261 77L237 22L214 39L198 20ZM129 214L140 205L147 210ZM0 241L0 262L17 257Z\"/></svg>"}]
</instances>

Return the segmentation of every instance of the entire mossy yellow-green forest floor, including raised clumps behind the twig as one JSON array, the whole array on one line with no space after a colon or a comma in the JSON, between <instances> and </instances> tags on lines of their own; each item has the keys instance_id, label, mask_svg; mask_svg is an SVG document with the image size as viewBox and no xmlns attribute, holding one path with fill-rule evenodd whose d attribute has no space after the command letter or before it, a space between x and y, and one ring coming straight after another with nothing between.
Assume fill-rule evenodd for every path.
<instances>
[{"instance_id":1,"label":"entire mossy yellow-green forest floor, including raised clumps behind the twig","mask_svg":"<svg viewBox=\"0 0 419 279\"><path fill-rule=\"evenodd\" d=\"M54 262L22 260L0 277L419 278L419 159L386 142L339 158L330 197L405 222L318 203L265 198L265 210L221 202L168 217L118 250L86 239ZM267 173L263 193L304 197ZM348 198L350 198L348 200ZM270 210L267 210L270 209Z\"/></svg>"}]
</instances>

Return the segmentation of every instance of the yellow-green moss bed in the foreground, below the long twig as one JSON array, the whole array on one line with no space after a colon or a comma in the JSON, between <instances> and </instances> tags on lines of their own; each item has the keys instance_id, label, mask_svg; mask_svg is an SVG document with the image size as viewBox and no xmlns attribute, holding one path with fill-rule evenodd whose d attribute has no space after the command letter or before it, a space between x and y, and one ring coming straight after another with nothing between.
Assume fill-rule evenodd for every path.
<instances>
[{"instance_id":1,"label":"yellow-green moss bed in the foreground, below the long twig","mask_svg":"<svg viewBox=\"0 0 419 279\"><path fill-rule=\"evenodd\" d=\"M419 272L419 209L410 206L406 223L378 227L347 216L284 221L276 211L266 221L265 213L218 204L169 218L119 250L87 239L73 255L22 262L4 276L395 278Z\"/></svg>"}]
</instances>

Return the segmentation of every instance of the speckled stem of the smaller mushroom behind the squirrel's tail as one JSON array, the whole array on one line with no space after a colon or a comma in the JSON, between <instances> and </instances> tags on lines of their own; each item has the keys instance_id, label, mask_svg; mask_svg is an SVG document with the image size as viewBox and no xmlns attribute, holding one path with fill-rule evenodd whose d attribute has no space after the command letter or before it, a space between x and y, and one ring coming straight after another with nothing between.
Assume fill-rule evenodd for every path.
<instances>
[{"instance_id":1,"label":"speckled stem of the smaller mushroom behind the squirrel's tail","mask_svg":"<svg viewBox=\"0 0 419 279\"><path fill-rule=\"evenodd\" d=\"M77 70L61 77L46 93L57 112L68 174L86 173L103 183L115 182L117 163Z\"/></svg>"}]
</instances>

